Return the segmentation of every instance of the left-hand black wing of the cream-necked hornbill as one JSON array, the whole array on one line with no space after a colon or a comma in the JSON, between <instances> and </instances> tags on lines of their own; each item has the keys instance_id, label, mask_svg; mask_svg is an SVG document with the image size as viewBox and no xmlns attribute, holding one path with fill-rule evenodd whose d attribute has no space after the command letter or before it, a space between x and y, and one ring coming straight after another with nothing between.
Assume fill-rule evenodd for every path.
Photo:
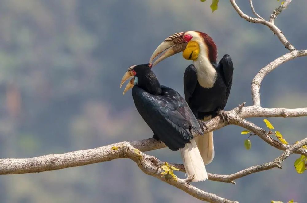
<instances>
[{"instance_id":1,"label":"left-hand black wing of the cream-necked hornbill","mask_svg":"<svg viewBox=\"0 0 307 203\"><path fill-rule=\"evenodd\" d=\"M183 76L183 88L185 93L185 100L191 107L190 99L193 96L193 92L197 84L197 71L194 65L189 65L185 69L185 74Z\"/></svg>"}]
</instances>

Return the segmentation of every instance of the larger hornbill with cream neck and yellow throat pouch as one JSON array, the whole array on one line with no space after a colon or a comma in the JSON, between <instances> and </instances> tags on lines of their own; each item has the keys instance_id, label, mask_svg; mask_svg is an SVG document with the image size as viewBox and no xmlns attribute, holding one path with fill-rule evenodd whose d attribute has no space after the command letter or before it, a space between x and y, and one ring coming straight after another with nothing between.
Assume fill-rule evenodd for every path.
<instances>
[{"instance_id":1,"label":"larger hornbill with cream neck and yellow throat pouch","mask_svg":"<svg viewBox=\"0 0 307 203\"><path fill-rule=\"evenodd\" d=\"M217 47L212 38L199 31L175 33L166 38L154 51L150 63L160 55L153 66L176 53L193 60L184 73L185 100L197 119L208 120L217 115L227 119L224 107L231 84L233 64L229 55L224 55L218 64ZM196 143L205 164L214 158L213 133L196 137Z\"/></svg>"}]
</instances>

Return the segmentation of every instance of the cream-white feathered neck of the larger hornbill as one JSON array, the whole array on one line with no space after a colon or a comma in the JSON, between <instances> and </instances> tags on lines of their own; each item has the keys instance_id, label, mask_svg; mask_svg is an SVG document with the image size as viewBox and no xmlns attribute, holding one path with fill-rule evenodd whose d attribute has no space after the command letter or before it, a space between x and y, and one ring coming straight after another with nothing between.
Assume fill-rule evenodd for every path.
<instances>
[{"instance_id":1,"label":"cream-white feathered neck of the larger hornbill","mask_svg":"<svg viewBox=\"0 0 307 203\"><path fill-rule=\"evenodd\" d=\"M212 88L217 78L216 68L208 58L207 47L200 47L198 58L193 61L197 70L197 80L200 86Z\"/></svg>"}]
</instances>

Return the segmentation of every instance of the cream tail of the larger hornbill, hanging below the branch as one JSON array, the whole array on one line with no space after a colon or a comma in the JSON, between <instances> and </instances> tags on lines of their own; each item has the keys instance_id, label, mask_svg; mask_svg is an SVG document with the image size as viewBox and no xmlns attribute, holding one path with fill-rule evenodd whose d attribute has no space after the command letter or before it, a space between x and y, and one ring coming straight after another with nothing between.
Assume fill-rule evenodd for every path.
<instances>
[{"instance_id":1,"label":"cream tail of the larger hornbill, hanging below the branch","mask_svg":"<svg viewBox=\"0 0 307 203\"><path fill-rule=\"evenodd\" d=\"M204 117L204 121L209 119L211 119L211 115ZM213 132L206 133L204 136L197 136L194 139L204 164L211 163L214 158Z\"/></svg>"}]
</instances>

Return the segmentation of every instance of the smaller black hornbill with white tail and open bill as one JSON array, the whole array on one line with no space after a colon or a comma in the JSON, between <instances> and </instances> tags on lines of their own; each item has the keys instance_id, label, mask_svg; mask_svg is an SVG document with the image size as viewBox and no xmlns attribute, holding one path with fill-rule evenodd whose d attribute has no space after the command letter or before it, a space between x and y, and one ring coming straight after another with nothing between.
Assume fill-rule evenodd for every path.
<instances>
[{"instance_id":1,"label":"smaller black hornbill with white tail and open bill","mask_svg":"<svg viewBox=\"0 0 307 203\"><path fill-rule=\"evenodd\" d=\"M153 138L161 140L169 149L180 149L185 171L194 175L194 182L207 179L207 172L192 132L203 135L200 125L185 99L175 90L160 85L151 64L131 66L122 84L133 77L123 94L132 88L138 112L153 131Z\"/></svg>"}]
</instances>

